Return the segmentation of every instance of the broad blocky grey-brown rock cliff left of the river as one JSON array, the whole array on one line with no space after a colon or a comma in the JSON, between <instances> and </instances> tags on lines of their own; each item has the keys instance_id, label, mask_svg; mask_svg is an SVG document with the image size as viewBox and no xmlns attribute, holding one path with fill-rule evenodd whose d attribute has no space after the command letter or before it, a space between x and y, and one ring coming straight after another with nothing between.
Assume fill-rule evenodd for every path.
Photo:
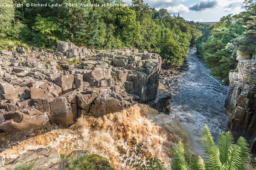
<instances>
[{"instance_id":1,"label":"broad blocky grey-brown rock cliff left of the river","mask_svg":"<svg viewBox=\"0 0 256 170\"><path fill-rule=\"evenodd\" d=\"M158 54L132 48L91 50L71 42L57 47L0 50L2 147L68 127L81 115L103 116L156 98Z\"/></svg>"}]
</instances>

